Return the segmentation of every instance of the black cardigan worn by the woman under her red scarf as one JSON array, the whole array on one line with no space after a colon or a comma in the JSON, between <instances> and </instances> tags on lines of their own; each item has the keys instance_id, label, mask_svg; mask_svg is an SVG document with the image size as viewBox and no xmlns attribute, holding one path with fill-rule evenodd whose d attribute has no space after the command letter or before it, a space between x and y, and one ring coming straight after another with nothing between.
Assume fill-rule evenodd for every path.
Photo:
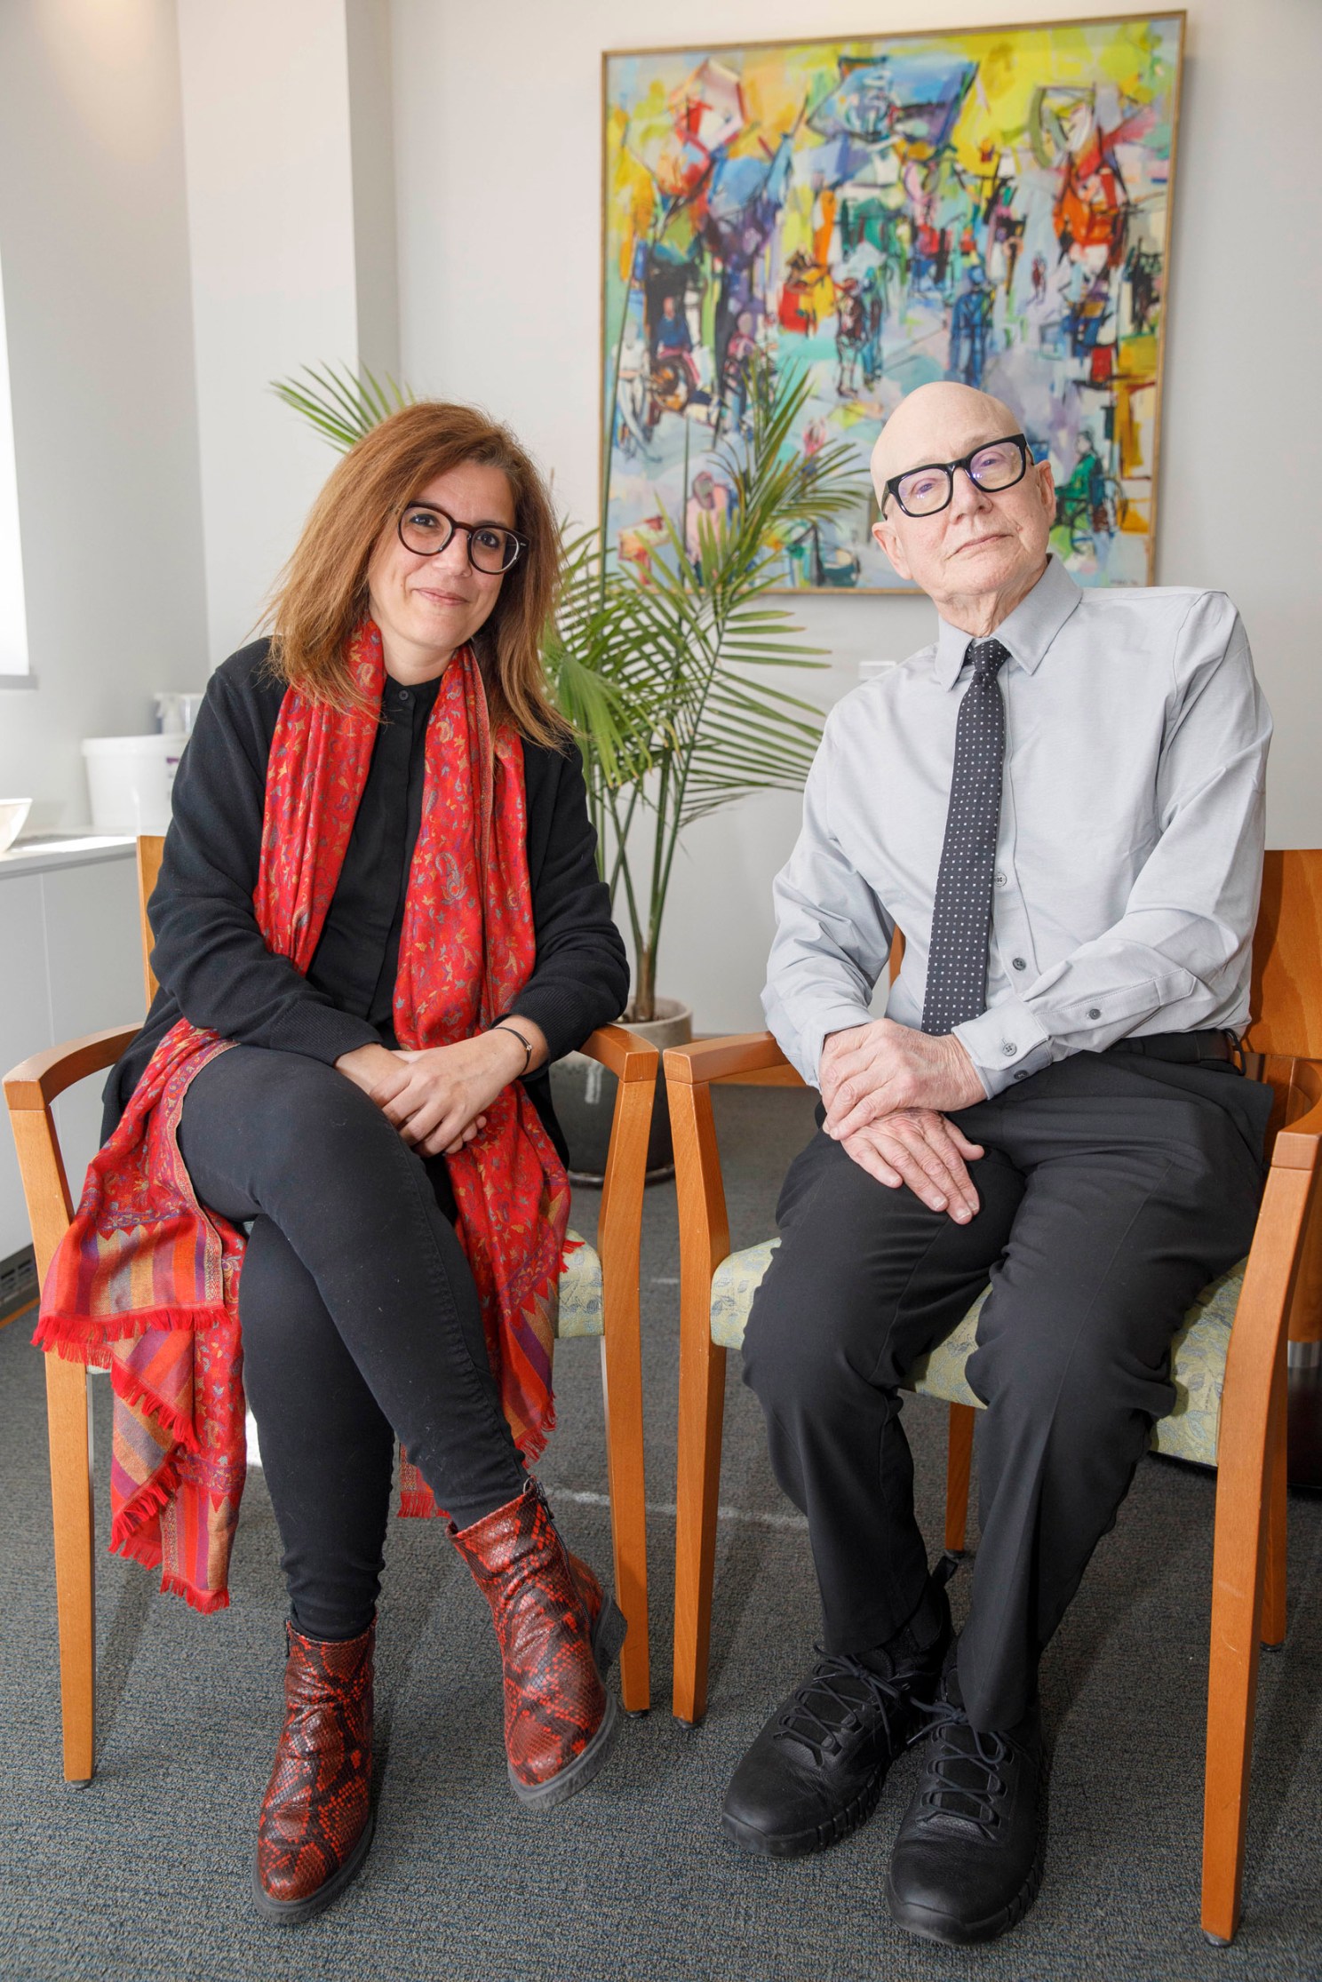
<instances>
[{"instance_id":1,"label":"black cardigan worn by the woman under her red scarf","mask_svg":"<svg viewBox=\"0 0 1322 1982\"><path fill-rule=\"evenodd\" d=\"M252 896L266 765L285 696L266 654L268 642L258 640L212 674L180 759L161 880L149 904L161 989L105 1084L103 1138L180 1017L246 1046L303 1052L327 1064L383 1037L367 1017L345 1011L285 957L272 955L258 930ZM579 751L525 741L523 773L537 961L509 1013L541 1027L555 1060L622 1011L628 963L597 878ZM414 811L404 864L416 825ZM394 890L394 874L383 876L383 886ZM545 1068L529 1076L527 1092L563 1154Z\"/></svg>"}]
</instances>

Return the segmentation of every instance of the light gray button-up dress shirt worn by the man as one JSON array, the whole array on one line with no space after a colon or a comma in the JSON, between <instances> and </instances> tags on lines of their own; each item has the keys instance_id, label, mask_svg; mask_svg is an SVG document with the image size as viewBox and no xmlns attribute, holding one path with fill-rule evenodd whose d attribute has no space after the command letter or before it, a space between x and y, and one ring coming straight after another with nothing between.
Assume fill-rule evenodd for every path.
<instances>
[{"instance_id":1,"label":"light gray button-up dress shirt worn by the man","mask_svg":"<svg viewBox=\"0 0 1322 1982\"><path fill-rule=\"evenodd\" d=\"M1225 593L1080 591L1052 557L995 628L1011 658L987 1011L955 1027L987 1094L1130 1033L1243 1031L1270 714ZM775 880L763 1005L803 1078L886 1015L920 1027L969 634L826 717Z\"/></svg>"}]
</instances>

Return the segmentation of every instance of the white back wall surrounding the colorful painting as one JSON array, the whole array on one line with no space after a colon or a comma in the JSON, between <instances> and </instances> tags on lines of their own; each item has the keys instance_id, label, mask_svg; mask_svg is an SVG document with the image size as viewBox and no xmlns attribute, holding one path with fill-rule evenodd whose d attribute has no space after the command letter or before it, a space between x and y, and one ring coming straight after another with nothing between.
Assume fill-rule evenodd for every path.
<instances>
[{"instance_id":1,"label":"white back wall surrounding the colorful painting","mask_svg":"<svg viewBox=\"0 0 1322 1982\"><path fill-rule=\"evenodd\" d=\"M890 0L886 30L1054 20L1060 0ZM1064 10L1070 12L1070 10ZM1110 14L1114 4L1078 14ZM601 52L797 34L876 34L868 0L392 0L400 343L418 390L511 420L569 507L597 505ZM1247 620L1276 710L1270 836L1322 842L1316 468L1322 287L1306 188L1322 174L1316 0L1189 0L1161 432L1157 583L1219 585ZM484 214L497 214L492 226ZM1304 440L1304 436L1308 436ZM1247 478L1270 464L1270 499ZM1259 470L1261 472L1261 470ZM930 638L914 599L795 601L830 650L834 700L860 656ZM662 989L704 1031L761 1023L769 882L797 801L769 795L688 836Z\"/></svg>"}]
</instances>

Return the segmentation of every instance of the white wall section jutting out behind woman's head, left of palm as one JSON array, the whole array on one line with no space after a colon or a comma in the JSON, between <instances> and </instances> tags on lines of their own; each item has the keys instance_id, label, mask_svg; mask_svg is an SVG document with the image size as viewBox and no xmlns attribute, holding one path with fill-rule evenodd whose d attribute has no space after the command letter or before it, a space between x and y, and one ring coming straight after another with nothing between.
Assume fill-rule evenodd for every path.
<instances>
[{"instance_id":1,"label":"white wall section jutting out behind woman's head, left of palm","mask_svg":"<svg viewBox=\"0 0 1322 1982\"><path fill-rule=\"evenodd\" d=\"M359 357L398 369L388 14L178 0L178 32L216 664L250 638L333 466L270 381Z\"/></svg>"}]
</instances>

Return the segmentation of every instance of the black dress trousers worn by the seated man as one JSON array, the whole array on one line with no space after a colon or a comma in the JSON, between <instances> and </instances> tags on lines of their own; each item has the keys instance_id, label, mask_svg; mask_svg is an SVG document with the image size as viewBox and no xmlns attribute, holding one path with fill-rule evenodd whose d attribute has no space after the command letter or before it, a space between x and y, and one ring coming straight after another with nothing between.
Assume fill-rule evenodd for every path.
<instances>
[{"instance_id":1,"label":"black dress trousers worn by the seated man","mask_svg":"<svg viewBox=\"0 0 1322 1982\"><path fill-rule=\"evenodd\" d=\"M1249 1251L1268 1112L1270 1090L1229 1062L1074 1054L951 1116L985 1148L967 1225L876 1183L819 1130L785 1179L743 1379L809 1518L828 1651L884 1643L920 1601L898 1385L991 1282L967 1364L987 1409L959 1685L975 1728L1023 1716L1173 1403L1171 1336Z\"/></svg>"}]
</instances>

